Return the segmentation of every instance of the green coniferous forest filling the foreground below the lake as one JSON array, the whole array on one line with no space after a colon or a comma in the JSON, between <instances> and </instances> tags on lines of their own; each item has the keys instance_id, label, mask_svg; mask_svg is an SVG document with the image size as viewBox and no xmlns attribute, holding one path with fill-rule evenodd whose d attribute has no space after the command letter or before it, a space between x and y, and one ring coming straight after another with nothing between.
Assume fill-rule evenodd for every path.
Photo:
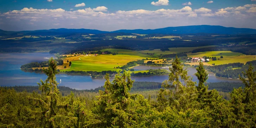
<instances>
[{"instance_id":1,"label":"green coniferous forest filling the foreground below the lake","mask_svg":"<svg viewBox=\"0 0 256 128\"><path fill-rule=\"evenodd\" d=\"M168 80L161 84L156 100L130 93L134 81L124 71L113 82L105 75L99 95L62 96L55 75L57 61L50 59L44 69L40 93L16 92L0 88L0 127L82 128L82 127L256 127L256 72L252 65L239 79L244 88L234 88L227 101L205 84L208 74L203 63L195 74L198 83L187 76L176 57ZM198 84L198 86L196 86Z\"/></svg>"}]
</instances>

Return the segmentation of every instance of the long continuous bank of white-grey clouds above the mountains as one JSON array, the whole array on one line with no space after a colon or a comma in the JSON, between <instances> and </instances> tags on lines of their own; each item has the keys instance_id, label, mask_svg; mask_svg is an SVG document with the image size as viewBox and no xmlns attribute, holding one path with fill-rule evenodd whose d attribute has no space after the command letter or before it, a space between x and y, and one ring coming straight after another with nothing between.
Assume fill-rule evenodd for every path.
<instances>
[{"instance_id":1,"label":"long continuous bank of white-grey clouds above the mountains","mask_svg":"<svg viewBox=\"0 0 256 128\"><path fill-rule=\"evenodd\" d=\"M235 10L226 11L224 8L213 12L211 9L189 6L180 9L158 9L145 10L137 9L130 11L116 11L114 13L97 11L96 8L84 8L65 11L58 9L35 9L23 8L1 13L2 18L0 29L8 31L27 30L28 23L33 23L31 29L51 29L51 28L88 28L100 29L104 31L119 29L153 29L168 26L184 25L228 25L232 27L256 28L254 21L256 17L255 8L247 8L247 12ZM241 8L240 8L241 9ZM198 17L198 18L196 18ZM214 17L214 18L211 18ZM78 20L79 19L79 20ZM250 19L250 20L244 20ZM187 22L189 21L189 22ZM236 22L232 22L236 21ZM161 24L156 24L161 23ZM73 25L71 25L73 24ZM152 24L155 24L152 26ZM20 27L11 27L19 25ZM27 25L27 26L26 26Z\"/></svg>"}]
</instances>

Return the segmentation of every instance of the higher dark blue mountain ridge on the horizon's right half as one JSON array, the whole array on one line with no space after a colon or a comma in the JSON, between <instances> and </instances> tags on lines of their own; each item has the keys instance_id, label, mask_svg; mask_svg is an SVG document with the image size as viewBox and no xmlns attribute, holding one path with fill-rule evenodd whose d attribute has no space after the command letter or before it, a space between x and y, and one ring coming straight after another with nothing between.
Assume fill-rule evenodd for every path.
<instances>
[{"instance_id":1,"label":"higher dark blue mountain ridge on the horizon's right half","mask_svg":"<svg viewBox=\"0 0 256 128\"><path fill-rule=\"evenodd\" d=\"M179 27L165 27L158 29L136 29L136 30L117 30L113 31L124 33L137 33L137 34L195 34L195 33L213 33L213 34L256 34L256 29L250 28L235 28L235 27L223 27L223 26L211 26L211 25L196 25L196 26L179 26Z\"/></svg>"}]
</instances>

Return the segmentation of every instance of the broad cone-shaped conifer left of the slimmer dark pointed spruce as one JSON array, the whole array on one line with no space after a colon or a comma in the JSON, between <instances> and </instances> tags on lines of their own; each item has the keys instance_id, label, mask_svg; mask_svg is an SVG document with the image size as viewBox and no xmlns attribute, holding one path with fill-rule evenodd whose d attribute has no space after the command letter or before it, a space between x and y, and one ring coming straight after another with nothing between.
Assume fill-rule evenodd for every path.
<instances>
[{"instance_id":1,"label":"broad cone-shaped conifer left of the slimmer dark pointed spruce","mask_svg":"<svg viewBox=\"0 0 256 128\"><path fill-rule=\"evenodd\" d=\"M191 76L187 76L187 70L183 69L177 56L169 70L171 71L169 79L162 83L157 97L157 101L160 103L159 109L163 110L167 105L177 109L192 107L190 103L197 98L196 82L192 81Z\"/></svg>"}]
</instances>

